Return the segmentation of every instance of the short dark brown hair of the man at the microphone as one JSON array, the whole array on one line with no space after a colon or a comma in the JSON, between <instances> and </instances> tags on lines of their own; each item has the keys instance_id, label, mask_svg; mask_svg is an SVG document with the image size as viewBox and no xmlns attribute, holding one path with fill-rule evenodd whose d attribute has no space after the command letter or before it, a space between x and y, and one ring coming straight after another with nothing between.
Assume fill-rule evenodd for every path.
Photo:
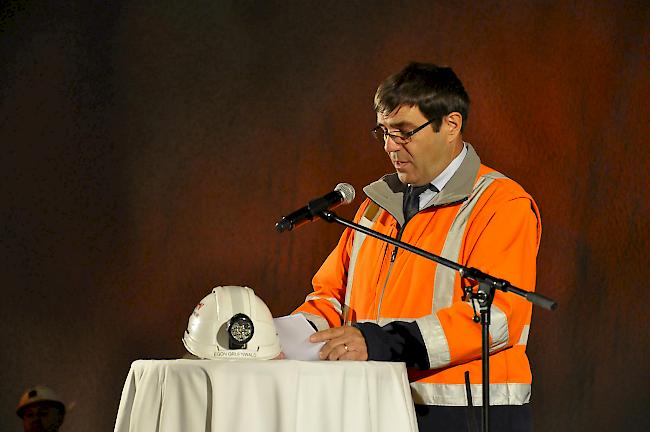
<instances>
[{"instance_id":1,"label":"short dark brown hair of the man at the microphone","mask_svg":"<svg viewBox=\"0 0 650 432\"><path fill-rule=\"evenodd\" d=\"M427 63L410 63L377 88L375 112L390 114L400 105L420 108L436 132L442 118L454 111L463 116L462 132L469 115L469 96L454 71Z\"/></svg>"}]
</instances>

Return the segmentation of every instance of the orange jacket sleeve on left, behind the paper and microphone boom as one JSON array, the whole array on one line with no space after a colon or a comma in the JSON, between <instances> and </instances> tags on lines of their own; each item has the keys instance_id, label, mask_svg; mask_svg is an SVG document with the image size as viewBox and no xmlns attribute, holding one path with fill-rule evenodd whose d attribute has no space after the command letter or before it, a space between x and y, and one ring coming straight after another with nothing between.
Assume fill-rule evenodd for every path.
<instances>
[{"instance_id":1,"label":"orange jacket sleeve on left, behind the paper and microphone boom","mask_svg":"<svg viewBox=\"0 0 650 432\"><path fill-rule=\"evenodd\" d=\"M355 216L358 221L368 205L364 202ZM346 228L334 250L312 279L313 292L293 313L301 313L318 330L343 324L343 309L354 231Z\"/></svg>"}]
</instances>

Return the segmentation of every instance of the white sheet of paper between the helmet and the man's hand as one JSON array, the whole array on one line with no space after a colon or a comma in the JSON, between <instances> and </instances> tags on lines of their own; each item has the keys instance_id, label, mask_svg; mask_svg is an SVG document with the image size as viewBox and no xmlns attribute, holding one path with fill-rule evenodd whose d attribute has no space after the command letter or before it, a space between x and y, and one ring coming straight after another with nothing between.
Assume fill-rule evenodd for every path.
<instances>
[{"instance_id":1,"label":"white sheet of paper between the helmet and the man's hand","mask_svg":"<svg viewBox=\"0 0 650 432\"><path fill-rule=\"evenodd\" d=\"M320 360L318 351L325 345L325 342L309 342L309 336L316 333L316 331L303 315L278 317L274 318L273 322L280 336L282 351L287 359Z\"/></svg>"}]
</instances>

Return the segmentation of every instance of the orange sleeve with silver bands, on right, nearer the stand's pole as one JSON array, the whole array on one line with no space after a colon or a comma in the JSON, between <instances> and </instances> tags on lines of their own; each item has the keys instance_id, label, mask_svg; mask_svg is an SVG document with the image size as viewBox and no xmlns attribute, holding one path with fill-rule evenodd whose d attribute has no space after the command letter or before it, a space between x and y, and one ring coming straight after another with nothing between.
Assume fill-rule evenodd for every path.
<instances>
[{"instance_id":1,"label":"orange sleeve with silver bands, on right, nearer the stand's pole","mask_svg":"<svg viewBox=\"0 0 650 432\"><path fill-rule=\"evenodd\" d=\"M541 235L539 213L530 198L502 203L494 211L482 210L467 227L461 262L512 285L533 291ZM478 313L478 304L477 313ZM490 352L525 343L531 304L524 298L497 291L491 309ZM475 323L469 301L418 318L417 323L430 369L466 363L481 356L481 326Z\"/></svg>"}]
</instances>

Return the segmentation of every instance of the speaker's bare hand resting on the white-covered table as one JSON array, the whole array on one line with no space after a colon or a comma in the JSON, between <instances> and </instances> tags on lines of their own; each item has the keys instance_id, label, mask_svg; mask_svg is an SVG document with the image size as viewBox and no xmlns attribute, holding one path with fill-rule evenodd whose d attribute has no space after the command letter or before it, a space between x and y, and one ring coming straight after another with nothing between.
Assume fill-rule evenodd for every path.
<instances>
[{"instance_id":1,"label":"speaker's bare hand resting on the white-covered table","mask_svg":"<svg viewBox=\"0 0 650 432\"><path fill-rule=\"evenodd\" d=\"M310 342L326 342L320 350L321 360L368 360L366 339L356 327L344 326L319 331Z\"/></svg>"}]
</instances>

